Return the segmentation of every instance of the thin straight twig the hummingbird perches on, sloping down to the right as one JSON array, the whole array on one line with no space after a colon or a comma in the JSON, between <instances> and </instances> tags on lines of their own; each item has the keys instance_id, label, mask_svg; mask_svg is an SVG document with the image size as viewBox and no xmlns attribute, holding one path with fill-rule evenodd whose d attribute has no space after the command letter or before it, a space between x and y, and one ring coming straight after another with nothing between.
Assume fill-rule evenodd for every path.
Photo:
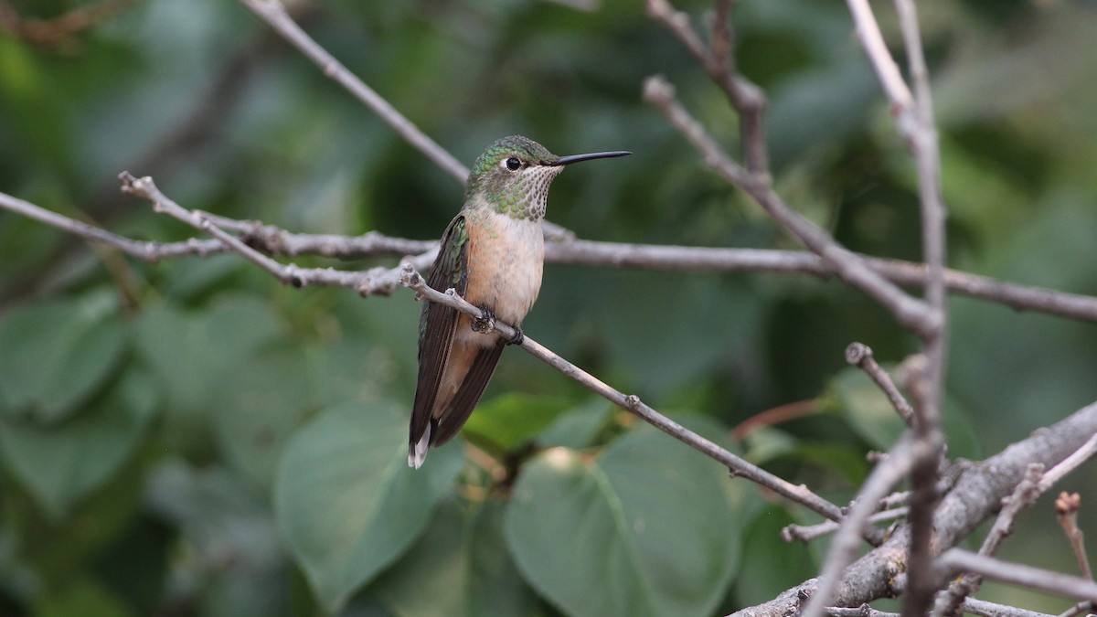
<instances>
[{"instance_id":1,"label":"thin straight twig the hummingbird perches on, sloping down to the right","mask_svg":"<svg viewBox=\"0 0 1097 617\"><path fill-rule=\"evenodd\" d=\"M446 306L466 313L476 318L482 316L482 312L478 307L465 302L465 300L456 293L452 293L452 290L448 290L443 293L432 289L410 265L406 265L404 267L402 282L405 287L414 290L417 294L431 302L445 304ZM512 326L498 321L495 322L495 329L507 338L513 338L517 334L517 330ZM588 390L603 396L614 405L640 416L648 424L682 441L694 450L720 461L728 468L733 475L742 475L743 478L760 484L761 486L788 497L789 500L803 504L826 518L832 520L841 519L841 511L837 506L819 497L803 484L792 484L791 482L778 478L777 475L773 475L772 473L769 473L768 471L756 467L739 457L736 457L709 439L701 437L700 435L656 412L643 403L636 395L624 394L610 388L598 378L587 373L572 362L568 362L552 350L530 338L528 335L523 337L520 347L534 358L574 379Z\"/></svg>"}]
</instances>

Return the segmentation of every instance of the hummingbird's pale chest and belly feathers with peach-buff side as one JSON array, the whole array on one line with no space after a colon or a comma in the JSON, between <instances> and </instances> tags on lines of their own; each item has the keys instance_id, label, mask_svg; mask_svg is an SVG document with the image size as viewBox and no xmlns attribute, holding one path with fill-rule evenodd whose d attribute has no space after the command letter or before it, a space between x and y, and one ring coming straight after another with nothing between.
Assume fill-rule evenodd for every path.
<instances>
[{"instance_id":1,"label":"hummingbird's pale chest and belly feathers with peach-buff side","mask_svg":"<svg viewBox=\"0 0 1097 617\"><path fill-rule=\"evenodd\" d=\"M540 222L488 212L468 227L465 299L496 317L521 323L541 291L544 236Z\"/></svg>"}]
</instances>

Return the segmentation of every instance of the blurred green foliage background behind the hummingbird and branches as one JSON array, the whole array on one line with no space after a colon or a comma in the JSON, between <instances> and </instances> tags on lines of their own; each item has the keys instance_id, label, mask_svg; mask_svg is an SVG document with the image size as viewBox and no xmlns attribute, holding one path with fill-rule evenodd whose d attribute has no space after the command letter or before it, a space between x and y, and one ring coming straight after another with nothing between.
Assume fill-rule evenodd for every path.
<instances>
[{"instance_id":1,"label":"blurred green foliage background behind the hummingbird and branches","mask_svg":"<svg viewBox=\"0 0 1097 617\"><path fill-rule=\"evenodd\" d=\"M120 195L120 171L299 232L432 238L459 207L452 178L240 3L120 3L49 42L19 27L91 3L3 3L0 190L157 240L191 231ZM554 184L548 217L580 237L796 246L641 103L642 80L667 75L734 152L734 114L643 2L298 4L321 45L466 162L516 133L558 154L636 153ZM1097 294L1093 3L923 4L950 262ZM709 8L679 7L695 24ZM855 250L918 259L913 167L844 3L744 1L736 34L770 97L779 191ZM951 455L1094 400L1097 328L950 306ZM812 515L518 351L465 438L408 470L417 315L403 291L283 289L231 256L144 265L0 212L0 614L709 615L816 573L825 541L778 538ZM783 274L548 266L523 327L722 442L815 400L728 447L839 504L898 430L842 350L860 340L894 363L917 348L862 294ZM1064 489L1094 485L1090 471ZM1007 559L1073 563L1050 504L1020 529Z\"/></svg>"}]
</instances>

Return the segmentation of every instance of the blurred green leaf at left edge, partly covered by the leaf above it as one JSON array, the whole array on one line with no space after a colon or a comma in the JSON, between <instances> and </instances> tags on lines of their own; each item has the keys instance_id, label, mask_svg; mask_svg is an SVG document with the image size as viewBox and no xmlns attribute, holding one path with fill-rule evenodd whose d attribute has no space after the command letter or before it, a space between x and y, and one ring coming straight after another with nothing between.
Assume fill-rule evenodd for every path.
<instances>
[{"instance_id":1,"label":"blurred green leaf at left edge, partly covered by the leaf above it","mask_svg":"<svg viewBox=\"0 0 1097 617\"><path fill-rule=\"evenodd\" d=\"M79 416L59 425L3 418L0 456L50 518L117 471L152 419L157 393L137 369L128 369Z\"/></svg>"}]
</instances>

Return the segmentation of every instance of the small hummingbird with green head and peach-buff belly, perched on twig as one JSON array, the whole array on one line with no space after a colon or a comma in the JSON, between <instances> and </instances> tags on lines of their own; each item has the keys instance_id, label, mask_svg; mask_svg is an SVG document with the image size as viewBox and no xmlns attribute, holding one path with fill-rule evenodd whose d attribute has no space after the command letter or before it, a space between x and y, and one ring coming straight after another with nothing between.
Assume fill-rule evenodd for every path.
<instances>
[{"instance_id":1,"label":"small hummingbird with green head and peach-buff belly, perched on twig","mask_svg":"<svg viewBox=\"0 0 1097 617\"><path fill-rule=\"evenodd\" d=\"M476 159L461 212L442 235L427 284L452 288L478 306L474 319L425 301L419 315L419 379L408 437L408 465L453 438L472 414L504 346L520 345L522 318L541 290L548 184L565 166L627 152L556 156L520 135L504 137ZM496 319L514 326L505 338ZM487 334L484 334L487 333Z\"/></svg>"}]
</instances>

